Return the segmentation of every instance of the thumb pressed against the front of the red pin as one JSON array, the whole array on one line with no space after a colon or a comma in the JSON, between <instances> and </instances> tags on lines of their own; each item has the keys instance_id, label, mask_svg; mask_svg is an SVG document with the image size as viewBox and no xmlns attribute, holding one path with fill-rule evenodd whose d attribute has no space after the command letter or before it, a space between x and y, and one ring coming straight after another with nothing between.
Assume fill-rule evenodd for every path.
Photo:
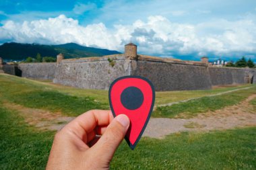
<instances>
[{"instance_id":1,"label":"thumb pressed against the front of the red pin","mask_svg":"<svg viewBox=\"0 0 256 170\"><path fill-rule=\"evenodd\" d=\"M104 161L111 161L117 147L122 142L125 134L129 128L130 120L124 115L120 114L115 117L108 125L104 134L100 137L98 142L94 144L94 151L98 153Z\"/></svg>"}]
</instances>

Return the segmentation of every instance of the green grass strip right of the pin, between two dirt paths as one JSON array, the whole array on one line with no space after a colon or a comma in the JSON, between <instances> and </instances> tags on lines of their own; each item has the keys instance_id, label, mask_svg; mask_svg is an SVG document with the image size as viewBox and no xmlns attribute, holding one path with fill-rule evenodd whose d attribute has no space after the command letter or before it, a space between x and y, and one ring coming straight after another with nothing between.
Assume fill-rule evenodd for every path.
<instances>
[{"instance_id":1,"label":"green grass strip right of the pin, between two dirt paths","mask_svg":"<svg viewBox=\"0 0 256 170\"><path fill-rule=\"evenodd\" d=\"M246 90L235 91L234 93L201 97L184 103L158 107L152 116L157 118L192 118L203 112L215 111L228 105L235 105L252 94L256 94L256 86Z\"/></svg>"}]
</instances>

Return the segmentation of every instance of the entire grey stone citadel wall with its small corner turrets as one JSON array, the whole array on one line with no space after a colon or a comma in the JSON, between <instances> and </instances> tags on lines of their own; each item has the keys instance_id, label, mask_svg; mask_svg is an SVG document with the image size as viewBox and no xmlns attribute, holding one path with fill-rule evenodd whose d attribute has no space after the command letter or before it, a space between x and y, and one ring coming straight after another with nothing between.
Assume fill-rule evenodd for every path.
<instances>
[{"instance_id":1,"label":"entire grey stone citadel wall with its small corner turrets","mask_svg":"<svg viewBox=\"0 0 256 170\"><path fill-rule=\"evenodd\" d=\"M125 54L63 59L57 62L3 65L11 75L51 79L53 83L84 89L108 89L118 77L139 75L152 81L156 91L211 89L212 85L256 83L256 69L208 67L202 62L137 54L137 46L125 45Z\"/></svg>"}]
</instances>

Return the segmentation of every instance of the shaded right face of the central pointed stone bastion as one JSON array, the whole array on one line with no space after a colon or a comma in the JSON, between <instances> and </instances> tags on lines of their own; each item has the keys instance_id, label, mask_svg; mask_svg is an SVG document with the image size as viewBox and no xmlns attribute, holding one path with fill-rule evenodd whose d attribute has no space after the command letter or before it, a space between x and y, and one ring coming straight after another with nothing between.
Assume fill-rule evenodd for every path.
<instances>
[{"instance_id":1,"label":"shaded right face of the central pointed stone bastion","mask_svg":"<svg viewBox=\"0 0 256 170\"><path fill-rule=\"evenodd\" d=\"M138 60L132 62L132 75L147 77L156 91L211 89L206 65Z\"/></svg>"}]
</instances>

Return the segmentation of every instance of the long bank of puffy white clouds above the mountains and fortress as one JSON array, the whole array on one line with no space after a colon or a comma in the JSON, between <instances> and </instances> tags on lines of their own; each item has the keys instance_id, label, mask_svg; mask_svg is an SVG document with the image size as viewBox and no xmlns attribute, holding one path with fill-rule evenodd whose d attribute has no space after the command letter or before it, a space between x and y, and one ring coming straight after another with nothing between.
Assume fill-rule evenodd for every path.
<instances>
[{"instance_id":1,"label":"long bank of puffy white clouds above the mountains and fortress","mask_svg":"<svg viewBox=\"0 0 256 170\"><path fill-rule=\"evenodd\" d=\"M1 40L40 44L75 42L120 51L124 44L132 41L141 54L236 56L241 52L256 52L256 24L250 19L177 24L155 15L146 22L137 20L131 25L109 29L102 23L81 26L76 19L59 15L22 24L7 21L0 27Z\"/></svg>"}]
</instances>

